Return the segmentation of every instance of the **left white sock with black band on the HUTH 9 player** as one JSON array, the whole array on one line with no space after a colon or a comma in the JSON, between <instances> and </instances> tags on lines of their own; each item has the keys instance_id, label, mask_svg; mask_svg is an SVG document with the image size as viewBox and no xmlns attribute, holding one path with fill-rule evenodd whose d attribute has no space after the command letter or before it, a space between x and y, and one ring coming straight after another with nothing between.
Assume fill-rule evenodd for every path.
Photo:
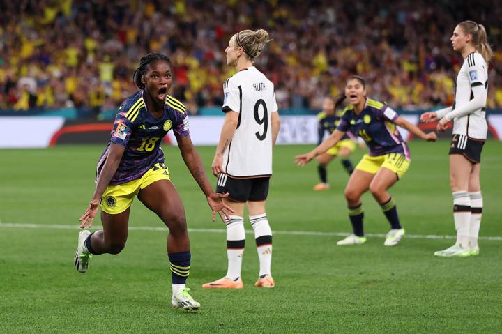
<instances>
[{"instance_id":1,"label":"left white sock with black band on the HUTH 9 player","mask_svg":"<svg viewBox=\"0 0 502 334\"><path fill-rule=\"evenodd\" d=\"M238 215L229 215L227 224L228 270L226 278L236 280L241 277L242 258L245 246L244 220Z\"/></svg>"}]
</instances>

